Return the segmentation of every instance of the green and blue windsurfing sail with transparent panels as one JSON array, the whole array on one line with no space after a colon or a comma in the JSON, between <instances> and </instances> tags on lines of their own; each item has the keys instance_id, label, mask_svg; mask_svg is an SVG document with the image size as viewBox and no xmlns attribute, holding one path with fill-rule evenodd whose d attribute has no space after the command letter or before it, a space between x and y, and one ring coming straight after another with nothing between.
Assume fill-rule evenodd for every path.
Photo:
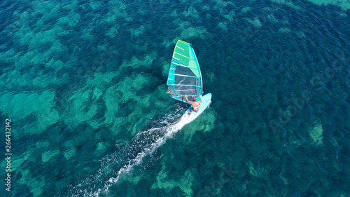
<instances>
[{"instance_id":1,"label":"green and blue windsurfing sail with transparent panels","mask_svg":"<svg viewBox=\"0 0 350 197\"><path fill-rule=\"evenodd\" d=\"M186 102L185 95L199 96L203 93L202 74L195 50L190 43L177 41L169 69L167 93L176 100Z\"/></svg>"}]
</instances>

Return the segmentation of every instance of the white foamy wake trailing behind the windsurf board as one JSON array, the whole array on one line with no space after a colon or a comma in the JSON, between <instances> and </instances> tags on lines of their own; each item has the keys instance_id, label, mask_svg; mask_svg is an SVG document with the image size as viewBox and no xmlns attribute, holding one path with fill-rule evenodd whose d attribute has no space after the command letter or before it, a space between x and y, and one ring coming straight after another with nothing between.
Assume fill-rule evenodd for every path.
<instances>
[{"instance_id":1,"label":"white foamy wake trailing behind the windsurf board","mask_svg":"<svg viewBox=\"0 0 350 197\"><path fill-rule=\"evenodd\" d=\"M108 193L109 187L118 183L120 178L130 172L135 165L139 165L146 156L153 154L162 144L165 144L183 128L183 125L184 123L181 122L172 123L162 128L151 128L138 133L130 144L125 145L121 153L117 152L102 158L100 160L102 167L94 175L71 188L69 195L99 196ZM125 164L120 165L120 163ZM114 171L116 169L119 169L118 172Z\"/></svg>"}]
</instances>

